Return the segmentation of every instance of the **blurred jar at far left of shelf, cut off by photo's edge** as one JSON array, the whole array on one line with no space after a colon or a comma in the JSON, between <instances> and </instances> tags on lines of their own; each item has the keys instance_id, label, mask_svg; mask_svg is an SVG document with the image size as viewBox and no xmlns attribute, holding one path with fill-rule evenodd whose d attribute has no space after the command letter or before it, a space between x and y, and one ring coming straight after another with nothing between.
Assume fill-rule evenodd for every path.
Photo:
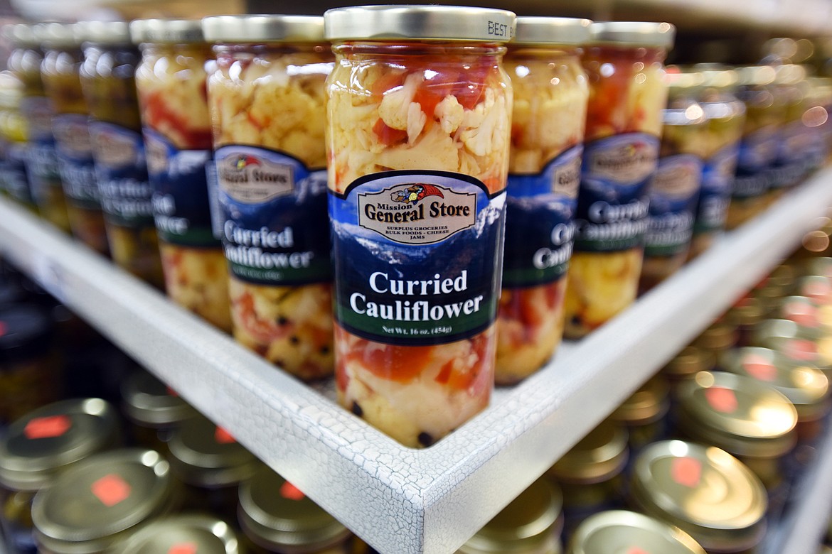
<instances>
[{"instance_id":1,"label":"blurred jar at far left of shelf, cut off by photo's edge","mask_svg":"<svg viewBox=\"0 0 832 554\"><path fill-rule=\"evenodd\" d=\"M0 71L0 140L3 150L0 186L9 198L37 213L26 174L29 130L26 118L20 112L22 96L22 81L11 71Z\"/></svg>"}]
</instances>

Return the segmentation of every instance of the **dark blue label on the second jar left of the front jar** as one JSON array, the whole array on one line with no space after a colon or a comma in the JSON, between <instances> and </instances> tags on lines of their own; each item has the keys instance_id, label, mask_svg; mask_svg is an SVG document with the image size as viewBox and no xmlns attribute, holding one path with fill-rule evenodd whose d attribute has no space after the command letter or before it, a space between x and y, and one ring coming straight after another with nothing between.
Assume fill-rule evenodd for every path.
<instances>
[{"instance_id":1,"label":"dark blue label on the second jar left of the front jar","mask_svg":"<svg viewBox=\"0 0 832 554\"><path fill-rule=\"evenodd\" d=\"M159 238L181 246L216 246L206 178L206 164L213 162L210 150L178 150L149 128L144 135Z\"/></svg>"}]
</instances>

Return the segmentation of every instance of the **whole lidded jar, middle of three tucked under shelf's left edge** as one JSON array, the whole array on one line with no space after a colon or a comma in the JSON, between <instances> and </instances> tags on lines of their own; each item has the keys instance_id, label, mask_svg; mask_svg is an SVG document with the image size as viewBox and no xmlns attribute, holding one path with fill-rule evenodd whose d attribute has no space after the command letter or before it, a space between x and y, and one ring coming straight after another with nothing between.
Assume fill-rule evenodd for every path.
<instances>
[{"instance_id":1,"label":"whole lidded jar, middle of three tucked under shelf's left edge","mask_svg":"<svg viewBox=\"0 0 832 554\"><path fill-rule=\"evenodd\" d=\"M187 485L185 509L207 509L233 520L237 487L255 472L255 455L199 414L173 430L167 448L174 476Z\"/></svg>"}]
</instances>

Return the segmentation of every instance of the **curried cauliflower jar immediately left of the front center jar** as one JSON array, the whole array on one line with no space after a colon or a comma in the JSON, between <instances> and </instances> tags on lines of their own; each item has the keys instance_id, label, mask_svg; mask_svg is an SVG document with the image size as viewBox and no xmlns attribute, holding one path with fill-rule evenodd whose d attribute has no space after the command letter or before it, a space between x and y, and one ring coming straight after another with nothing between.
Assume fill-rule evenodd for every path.
<instances>
[{"instance_id":1,"label":"curried cauliflower jar immediately left of the front center jar","mask_svg":"<svg viewBox=\"0 0 832 554\"><path fill-rule=\"evenodd\" d=\"M224 16L208 77L234 336L304 380L332 375L321 17Z\"/></svg>"}]
</instances>

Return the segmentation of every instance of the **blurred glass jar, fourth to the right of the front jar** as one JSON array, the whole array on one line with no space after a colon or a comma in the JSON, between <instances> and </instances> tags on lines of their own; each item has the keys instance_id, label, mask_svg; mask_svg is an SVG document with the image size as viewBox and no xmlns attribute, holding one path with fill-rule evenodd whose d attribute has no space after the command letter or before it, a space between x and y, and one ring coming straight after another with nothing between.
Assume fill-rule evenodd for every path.
<instances>
[{"instance_id":1,"label":"blurred glass jar, fourth to the right of the front jar","mask_svg":"<svg viewBox=\"0 0 832 554\"><path fill-rule=\"evenodd\" d=\"M689 257L705 252L726 225L726 214L734 183L736 160L745 122L745 104L736 97L735 71L710 64L691 68L702 76L696 101L705 111L705 165L696 204L696 223Z\"/></svg>"}]
</instances>

